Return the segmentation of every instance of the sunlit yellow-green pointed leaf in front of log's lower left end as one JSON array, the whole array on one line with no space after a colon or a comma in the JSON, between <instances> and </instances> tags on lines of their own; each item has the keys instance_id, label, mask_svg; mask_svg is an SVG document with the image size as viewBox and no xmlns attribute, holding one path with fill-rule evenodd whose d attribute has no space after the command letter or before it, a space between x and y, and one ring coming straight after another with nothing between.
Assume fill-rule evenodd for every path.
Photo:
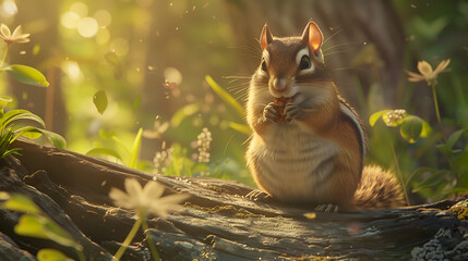
<instances>
[{"instance_id":1,"label":"sunlit yellow-green pointed leaf in front of log's lower left end","mask_svg":"<svg viewBox=\"0 0 468 261\"><path fill-rule=\"evenodd\" d=\"M21 236L50 239L76 250L83 249L67 231L46 216L24 214L14 226L14 232Z\"/></svg>"}]
</instances>

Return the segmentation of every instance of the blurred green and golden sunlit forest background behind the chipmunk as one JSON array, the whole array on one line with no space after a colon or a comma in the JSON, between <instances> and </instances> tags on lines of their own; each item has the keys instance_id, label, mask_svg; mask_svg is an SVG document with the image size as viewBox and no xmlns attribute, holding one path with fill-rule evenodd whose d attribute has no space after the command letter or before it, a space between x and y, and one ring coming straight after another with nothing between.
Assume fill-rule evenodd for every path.
<instances>
[{"instance_id":1,"label":"blurred green and golden sunlit forest background behind the chipmunk","mask_svg":"<svg viewBox=\"0 0 468 261\"><path fill-rule=\"evenodd\" d=\"M243 159L243 115L206 76L243 104L264 23L273 35L288 36L301 34L309 20L322 28L327 66L367 125L368 163L396 170L393 146L409 188L424 179L411 179L418 167L449 165L436 149L431 88L408 83L405 71L417 72L418 61L435 67L451 59L436 86L444 132L468 127L463 0L0 0L1 23L31 34L31 42L12 46L7 63L36 67L50 83L26 86L0 74L0 90L14 98L13 108L38 114L64 136L69 150L124 159L143 128L140 169L253 185ZM107 97L103 113L93 103L96 94ZM433 133L408 144L383 123L370 127L369 116L383 109L419 115ZM466 153L466 136L454 148ZM460 172L466 182L457 186L468 187L468 172ZM446 183L436 189L454 188L449 178L436 182ZM423 185L412 191L428 200L446 195Z\"/></svg>"}]
</instances>

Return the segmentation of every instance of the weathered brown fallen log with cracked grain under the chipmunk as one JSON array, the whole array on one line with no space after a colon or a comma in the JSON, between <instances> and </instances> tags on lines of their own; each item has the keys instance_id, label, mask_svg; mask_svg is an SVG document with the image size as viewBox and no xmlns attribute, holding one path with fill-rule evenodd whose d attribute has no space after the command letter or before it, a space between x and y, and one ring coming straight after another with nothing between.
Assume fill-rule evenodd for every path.
<instances>
[{"instance_id":1,"label":"weathered brown fallen log with cracked grain under the chipmunk","mask_svg":"<svg viewBox=\"0 0 468 261\"><path fill-rule=\"evenodd\" d=\"M15 141L14 146L22 148L22 156L19 160L11 157L0 162L0 190L32 198L83 245L88 259L110 260L135 222L134 213L113 206L108 197L110 188L123 189L128 177L144 184L153 176L25 140ZM167 188L166 195L176 191L191 195L182 211L167 220L151 216L148 221L147 233L164 260L315 257L409 260L431 254L464 260L468 254L468 224L458 219L452 208L457 202L467 204L467 200L401 209L313 213L247 199L243 196L253 188L237 182L160 175L156 179ZM463 210L466 206L457 208ZM48 247L77 258L72 249L15 235L12 227L20 215L0 210L0 233L17 245L10 244L13 250L35 254ZM122 260L148 257L144 238L140 231ZM439 248L434 247L437 244Z\"/></svg>"}]
</instances>

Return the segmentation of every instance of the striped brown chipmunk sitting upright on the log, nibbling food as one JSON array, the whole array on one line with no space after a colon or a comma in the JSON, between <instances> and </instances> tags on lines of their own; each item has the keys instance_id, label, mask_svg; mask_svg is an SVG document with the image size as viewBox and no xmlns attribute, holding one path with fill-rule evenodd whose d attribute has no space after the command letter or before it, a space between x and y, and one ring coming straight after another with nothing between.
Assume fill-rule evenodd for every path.
<instances>
[{"instance_id":1,"label":"striped brown chipmunk sitting upright on the log, nibbling food","mask_svg":"<svg viewBox=\"0 0 468 261\"><path fill-rule=\"evenodd\" d=\"M364 166L361 121L332 80L322 44L314 22L300 37L276 38L263 27L247 104L253 135L245 158L255 183L273 199L325 211L404 206L393 174Z\"/></svg>"}]
</instances>

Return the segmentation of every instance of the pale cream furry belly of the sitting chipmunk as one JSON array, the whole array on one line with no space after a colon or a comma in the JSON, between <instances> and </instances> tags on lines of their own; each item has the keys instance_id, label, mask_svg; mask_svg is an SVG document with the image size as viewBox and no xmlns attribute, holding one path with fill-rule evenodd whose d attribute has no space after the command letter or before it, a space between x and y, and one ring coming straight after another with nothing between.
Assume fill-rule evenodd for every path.
<instances>
[{"instance_id":1,"label":"pale cream furry belly of the sitting chipmunk","mask_svg":"<svg viewBox=\"0 0 468 261\"><path fill-rule=\"evenodd\" d=\"M254 136L253 154L257 182L273 197L286 202L324 202L334 158L339 147L295 123L278 124Z\"/></svg>"}]
</instances>

